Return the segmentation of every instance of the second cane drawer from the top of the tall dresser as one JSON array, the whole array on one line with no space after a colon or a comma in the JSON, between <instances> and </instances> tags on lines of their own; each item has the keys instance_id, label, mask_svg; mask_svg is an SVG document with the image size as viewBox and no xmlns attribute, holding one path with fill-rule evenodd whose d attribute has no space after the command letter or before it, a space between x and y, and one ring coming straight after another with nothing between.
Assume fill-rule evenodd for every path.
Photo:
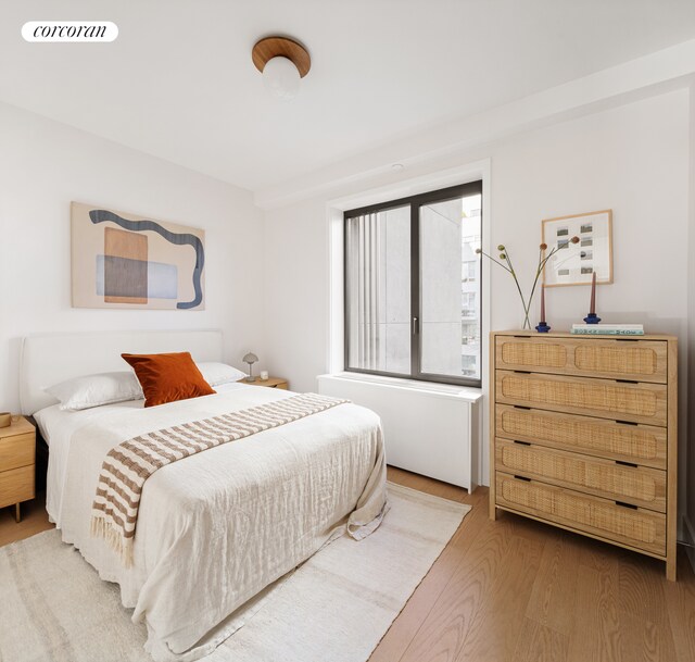
<instances>
[{"instance_id":1,"label":"second cane drawer from the top of the tall dresser","mask_svg":"<svg viewBox=\"0 0 695 662\"><path fill-rule=\"evenodd\" d=\"M667 387L662 384L624 384L498 370L495 399L503 404L666 425Z\"/></svg>"}]
</instances>

